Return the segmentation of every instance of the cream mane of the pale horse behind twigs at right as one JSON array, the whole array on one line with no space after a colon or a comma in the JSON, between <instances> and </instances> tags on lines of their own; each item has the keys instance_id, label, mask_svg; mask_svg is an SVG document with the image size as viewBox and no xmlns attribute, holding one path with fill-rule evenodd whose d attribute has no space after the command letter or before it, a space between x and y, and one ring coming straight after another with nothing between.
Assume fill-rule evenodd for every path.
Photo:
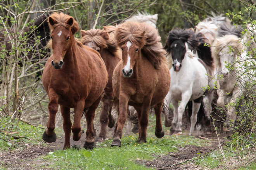
<instances>
[{"instance_id":1,"label":"cream mane of the pale horse behind twigs at right","mask_svg":"<svg viewBox=\"0 0 256 170\"><path fill-rule=\"evenodd\" d=\"M216 66L220 66L220 52L226 47L231 47L235 53L240 54L243 45L240 43L240 38L235 35L225 35L215 39L211 47L211 55L213 56Z\"/></svg>"}]
</instances>

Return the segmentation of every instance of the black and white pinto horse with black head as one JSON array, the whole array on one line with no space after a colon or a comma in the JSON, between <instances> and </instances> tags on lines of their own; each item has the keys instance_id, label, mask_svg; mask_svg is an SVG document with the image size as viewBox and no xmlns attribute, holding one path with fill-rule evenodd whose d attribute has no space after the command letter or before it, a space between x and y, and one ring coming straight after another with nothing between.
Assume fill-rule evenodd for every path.
<instances>
[{"instance_id":1,"label":"black and white pinto horse with black head","mask_svg":"<svg viewBox=\"0 0 256 170\"><path fill-rule=\"evenodd\" d=\"M182 116L189 101L192 101L192 116L189 135L193 134L197 122L197 112L203 102L203 94L209 85L209 71L213 70L213 58L211 49L204 46L202 34L194 34L191 29L172 30L164 49L171 73L171 85L166 96L167 105L173 104L173 121L171 134L182 133ZM180 105L178 105L178 102ZM167 117L165 117L167 118ZM202 117L201 117L202 118ZM207 123L210 123L210 115L206 115ZM200 122L200 120L198 120ZM201 130L201 124L197 124L197 135Z\"/></svg>"}]
</instances>

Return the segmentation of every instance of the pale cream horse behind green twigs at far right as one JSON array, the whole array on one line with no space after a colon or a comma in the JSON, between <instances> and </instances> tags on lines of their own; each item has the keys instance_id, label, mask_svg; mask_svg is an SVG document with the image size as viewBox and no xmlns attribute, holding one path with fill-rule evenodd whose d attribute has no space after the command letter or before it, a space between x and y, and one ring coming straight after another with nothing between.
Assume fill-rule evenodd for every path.
<instances>
[{"instance_id":1,"label":"pale cream horse behind green twigs at far right","mask_svg":"<svg viewBox=\"0 0 256 170\"><path fill-rule=\"evenodd\" d=\"M230 104L227 108L227 118L234 123L236 120L235 114L235 100L241 95L243 85L246 78L239 73L239 65L241 50L243 49L239 37L235 35L226 35L217 38L213 43L212 56L214 57L220 82L220 95L217 100L219 107L224 107L229 101ZM239 61L239 62L238 62ZM241 63L241 64L239 64ZM230 68L226 68L230 65ZM228 97L230 94L231 97Z\"/></svg>"}]
</instances>

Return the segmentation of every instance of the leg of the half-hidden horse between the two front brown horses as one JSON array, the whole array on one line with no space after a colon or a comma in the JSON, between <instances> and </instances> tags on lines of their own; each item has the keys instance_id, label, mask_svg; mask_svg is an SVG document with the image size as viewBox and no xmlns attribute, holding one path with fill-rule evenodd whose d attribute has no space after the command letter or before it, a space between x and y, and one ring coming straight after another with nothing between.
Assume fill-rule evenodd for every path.
<instances>
[{"instance_id":1,"label":"leg of the half-hidden horse between the two front brown horses","mask_svg":"<svg viewBox=\"0 0 256 170\"><path fill-rule=\"evenodd\" d=\"M111 100L106 99L103 103L103 109L100 114L100 134L97 141L102 142L107 136L107 124L109 122L109 110L111 109Z\"/></svg>"}]
</instances>

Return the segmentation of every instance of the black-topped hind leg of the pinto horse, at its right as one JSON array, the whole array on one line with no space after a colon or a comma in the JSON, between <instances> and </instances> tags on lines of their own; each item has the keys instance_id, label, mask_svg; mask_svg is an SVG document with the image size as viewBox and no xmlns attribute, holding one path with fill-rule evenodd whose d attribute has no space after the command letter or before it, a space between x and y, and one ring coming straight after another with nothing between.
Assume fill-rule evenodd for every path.
<instances>
[{"instance_id":1,"label":"black-topped hind leg of the pinto horse, at its right","mask_svg":"<svg viewBox=\"0 0 256 170\"><path fill-rule=\"evenodd\" d=\"M199 97L198 99L193 100L193 106L192 106L192 115L190 117L190 131L189 131L189 136L193 135L193 131L195 128L195 123L197 122L197 113L200 109L201 106L201 102L202 102L203 97ZM198 131L201 130L201 124L199 124L199 126L197 127ZM199 134L197 134L199 135Z\"/></svg>"}]
</instances>

